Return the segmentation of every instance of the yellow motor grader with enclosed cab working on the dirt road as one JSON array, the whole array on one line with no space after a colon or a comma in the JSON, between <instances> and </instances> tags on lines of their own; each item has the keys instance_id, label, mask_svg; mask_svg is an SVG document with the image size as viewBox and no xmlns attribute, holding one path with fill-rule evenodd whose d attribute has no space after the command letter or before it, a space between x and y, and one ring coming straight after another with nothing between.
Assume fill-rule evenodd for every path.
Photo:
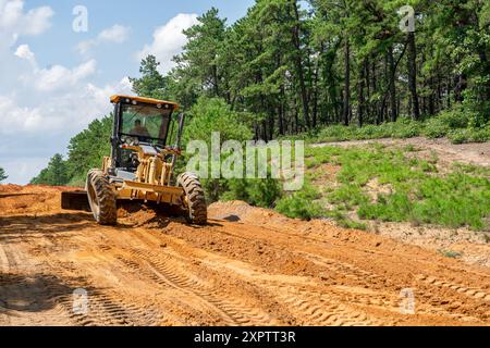
<instances>
[{"instance_id":1,"label":"yellow motor grader with enclosed cab working on the dirt road","mask_svg":"<svg viewBox=\"0 0 490 348\"><path fill-rule=\"evenodd\" d=\"M62 192L62 209L90 210L99 224L114 225L119 202L167 203L181 208L189 223L206 224L207 206L197 176L183 173L173 181L184 126L184 114L174 116L179 105L130 96L112 96L111 102L111 154L103 158L101 169L88 172L85 191ZM169 146L172 135L175 142Z\"/></svg>"}]
</instances>

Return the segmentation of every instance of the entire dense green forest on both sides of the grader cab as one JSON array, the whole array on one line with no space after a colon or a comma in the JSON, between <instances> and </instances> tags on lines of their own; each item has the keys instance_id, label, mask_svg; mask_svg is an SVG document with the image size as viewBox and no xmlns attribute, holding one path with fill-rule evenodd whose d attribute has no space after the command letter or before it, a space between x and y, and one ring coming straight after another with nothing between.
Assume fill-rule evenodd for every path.
<instances>
[{"instance_id":1,"label":"entire dense green forest on both sides of the grader cab","mask_svg":"<svg viewBox=\"0 0 490 348\"><path fill-rule=\"evenodd\" d=\"M183 105L187 139L490 139L488 1L257 0L236 23L211 9L184 34L170 73L149 55L131 82ZM93 122L33 183L82 185L110 124Z\"/></svg>"}]
</instances>

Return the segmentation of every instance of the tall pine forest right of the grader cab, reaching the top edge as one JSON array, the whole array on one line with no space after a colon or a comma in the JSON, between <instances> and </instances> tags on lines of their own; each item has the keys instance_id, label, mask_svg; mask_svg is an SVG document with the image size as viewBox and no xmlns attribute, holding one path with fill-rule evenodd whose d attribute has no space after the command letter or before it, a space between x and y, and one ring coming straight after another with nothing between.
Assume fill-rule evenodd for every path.
<instances>
[{"instance_id":1,"label":"tall pine forest right of the grader cab, reaching the top edge","mask_svg":"<svg viewBox=\"0 0 490 348\"><path fill-rule=\"evenodd\" d=\"M257 1L226 25L211 9L188 38L177 66L142 95L223 98L254 114L256 138L331 124L421 121L463 104L474 126L489 121L490 3L408 1L415 32L400 25L406 1ZM409 23L408 23L409 24ZM407 32L407 33L405 33ZM151 61L147 62L149 66Z\"/></svg>"}]
</instances>

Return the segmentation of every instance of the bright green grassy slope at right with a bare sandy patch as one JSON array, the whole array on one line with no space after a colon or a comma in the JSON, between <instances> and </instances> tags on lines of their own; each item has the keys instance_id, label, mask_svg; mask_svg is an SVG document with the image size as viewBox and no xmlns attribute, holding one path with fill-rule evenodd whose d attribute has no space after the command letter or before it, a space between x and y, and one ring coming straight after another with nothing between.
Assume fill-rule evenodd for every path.
<instances>
[{"instance_id":1,"label":"bright green grassy slope at right with a bare sandy patch","mask_svg":"<svg viewBox=\"0 0 490 348\"><path fill-rule=\"evenodd\" d=\"M323 215L347 225L345 215L355 211L363 220L489 228L488 169L460 164L442 175L436 157L421 160L408 157L409 150L380 145L308 148L309 169L327 162L341 166L335 183L323 188L324 199L334 207Z\"/></svg>"}]
</instances>

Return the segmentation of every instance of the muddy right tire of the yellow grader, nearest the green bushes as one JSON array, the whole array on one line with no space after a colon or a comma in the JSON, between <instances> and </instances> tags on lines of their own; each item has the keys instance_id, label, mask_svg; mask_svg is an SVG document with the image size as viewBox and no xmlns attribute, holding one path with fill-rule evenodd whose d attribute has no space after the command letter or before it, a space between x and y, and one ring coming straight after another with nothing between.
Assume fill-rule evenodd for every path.
<instances>
[{"instance_id":1,"label":"muddy right tire of the yellow grader, nearest the green bushes","mask_svg":"<svg viewBox=\"0 0 490 348\"><path fill-rule=\"evenodd\" d=\"M185 191L186 219L189 223L205 225L208 221L206 198L199 179L192 173L184 173L177 177L179 186Z\"/></svg>"}]
</instances>

